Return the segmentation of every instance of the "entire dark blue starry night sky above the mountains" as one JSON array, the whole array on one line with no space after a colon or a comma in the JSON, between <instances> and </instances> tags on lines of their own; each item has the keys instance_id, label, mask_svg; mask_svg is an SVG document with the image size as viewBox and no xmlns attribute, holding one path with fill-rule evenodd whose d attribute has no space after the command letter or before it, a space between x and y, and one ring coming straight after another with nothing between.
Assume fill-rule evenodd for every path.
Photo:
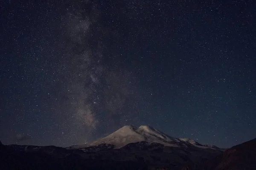
<instances>
[{"instance_id":1,"label":"entire dark blue starry night sky above the mountains","mask_svg":"<svg viewBox=\"0 0 256 170\"><path fill-rule=\"evenodd\" d=\"M84 144L123 125L256 137L253 0L4 0L0 140Z\"/></svg>"}]
</instances>

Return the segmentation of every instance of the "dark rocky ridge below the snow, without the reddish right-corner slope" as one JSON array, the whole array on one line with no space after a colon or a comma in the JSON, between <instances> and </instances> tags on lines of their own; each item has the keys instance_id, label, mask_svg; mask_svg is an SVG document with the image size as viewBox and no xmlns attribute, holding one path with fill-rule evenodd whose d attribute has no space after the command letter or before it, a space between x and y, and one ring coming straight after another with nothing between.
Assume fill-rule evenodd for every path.
<instances>
[{"instance_id":1,"label":"dark rocky ridge below the snow, without the reddish right-corner slope","mask_svg":"<svg viewBox=\"0 0 256 170\"><path fill-rule=\"evenodd\" d=\"M0 170L181 170L185 163L213 158L221 152L148 142L130 143L119 149L111 144L82 149L1 144Z\"/></svg>"}]
</instances>

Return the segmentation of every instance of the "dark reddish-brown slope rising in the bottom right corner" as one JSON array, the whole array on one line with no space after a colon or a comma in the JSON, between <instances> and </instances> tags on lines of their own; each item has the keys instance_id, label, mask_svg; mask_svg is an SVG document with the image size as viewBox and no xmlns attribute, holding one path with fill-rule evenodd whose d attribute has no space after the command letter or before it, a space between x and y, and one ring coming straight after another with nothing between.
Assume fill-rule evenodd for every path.
<instances>
[{"instance_id":1,"label":"dark reddish-brown slope rising in the bottom right corner","mask_svg":"<svg viewBox=\"0 0 256 170\"><path fill-rule=\"evenodd\" d=\"M183 170L256 170L256 139L233 146L214 159L190 164Z\"/></svg>"}]
</instances>

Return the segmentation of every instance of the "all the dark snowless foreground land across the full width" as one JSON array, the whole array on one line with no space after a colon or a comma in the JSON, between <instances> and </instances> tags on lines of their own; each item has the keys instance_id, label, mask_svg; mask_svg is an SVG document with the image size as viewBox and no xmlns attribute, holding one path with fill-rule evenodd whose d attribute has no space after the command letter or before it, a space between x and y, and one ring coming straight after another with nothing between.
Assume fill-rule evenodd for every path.
<instances>
[{"instance_id":1,"label":"all the dark snowless foreground land across the full width","mask_svg":"<svg viewBox=\"0 0 256 170\"><path fill-rule=\"evenodd\" d=\"M226 151L136 142L82 149L3 145L0 170L256 170L256 139Z\"/></svg>"}]
</instances>

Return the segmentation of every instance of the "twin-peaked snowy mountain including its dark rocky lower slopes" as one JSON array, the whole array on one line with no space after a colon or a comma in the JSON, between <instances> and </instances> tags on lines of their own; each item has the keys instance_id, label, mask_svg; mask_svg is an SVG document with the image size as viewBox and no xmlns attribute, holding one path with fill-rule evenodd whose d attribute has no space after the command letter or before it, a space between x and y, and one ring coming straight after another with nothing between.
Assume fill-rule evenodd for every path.
<instances>
[{"instance_id":1,"label":"twin-peaked snowy mountain including its dark rocky lower slopes","mask_svg":"<svg viewBox=\"0 0 256 170\"><path fill-rule=\"evenodd\" d=\"M223 152L218 147L202 145L188 138L174 138L145 125L126 125L95 142L68 147L67 150L80 150L101 159L143 162L152 168L172 170L180 170L185 164L202 159L212 159Z\"/></svg>"}]
</instances>

